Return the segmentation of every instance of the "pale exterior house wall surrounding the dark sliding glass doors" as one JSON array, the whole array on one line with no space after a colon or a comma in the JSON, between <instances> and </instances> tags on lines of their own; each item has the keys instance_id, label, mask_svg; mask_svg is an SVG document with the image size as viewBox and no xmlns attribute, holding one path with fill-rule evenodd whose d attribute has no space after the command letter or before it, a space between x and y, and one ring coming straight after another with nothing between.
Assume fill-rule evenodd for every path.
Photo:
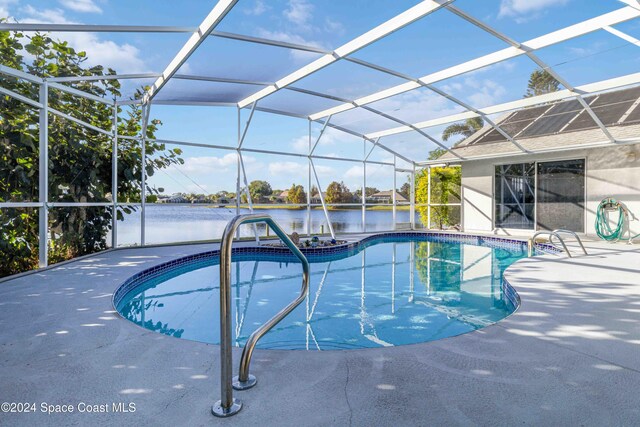
<instances>
[{"instance_id":1,"label":"pale exterior house wall surrounding the dark sliding glass doors","mask_svg":"<svg viewBox=\"0 0 640 427\"><path fill-rule=\"evenodd\" d=\"M638 217L638 220L631 222L632 234L640 233L640 145L638 144L464 162L462 164L464 230L495 234L533 233L531 230L494 229L495 165L580 158L586 159L586 234L595 236L596 209L605 197L613 197L627 205Z\"/></svg>"}]
</instances>

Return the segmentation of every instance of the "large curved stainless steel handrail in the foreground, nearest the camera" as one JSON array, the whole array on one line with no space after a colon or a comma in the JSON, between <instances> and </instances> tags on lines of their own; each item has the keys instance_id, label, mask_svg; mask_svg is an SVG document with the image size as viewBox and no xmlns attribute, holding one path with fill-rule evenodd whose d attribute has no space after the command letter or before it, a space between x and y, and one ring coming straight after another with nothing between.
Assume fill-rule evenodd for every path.
<instances>
[{"instance_id":1,"label":"large curved stainless steel handrail in the foreground, nearest the camera","mask_svg":"<svg viewBox=\"0 0 640 427\"><path fill-rule=\"evenodd\" d=\"M240 359L240 372L232 379L233 359L231 354L231 245L233 236L241 224L264 222L276 233L291 252L302 263L302 289L300 295L289 305L280 310L265 324L256 329L244 346ZM309 261L300 249L291 241L280 226L266 214L237 215L224 229L220 242L220 387L222 397L211 408L218 417L237 414L242 409L242 402L233 398L233 389L246 390L256 384L256 377L249 374L249 365L253 350L264 334L284 319L296 308L309 293Z\"/></svg>"}]
</instances>

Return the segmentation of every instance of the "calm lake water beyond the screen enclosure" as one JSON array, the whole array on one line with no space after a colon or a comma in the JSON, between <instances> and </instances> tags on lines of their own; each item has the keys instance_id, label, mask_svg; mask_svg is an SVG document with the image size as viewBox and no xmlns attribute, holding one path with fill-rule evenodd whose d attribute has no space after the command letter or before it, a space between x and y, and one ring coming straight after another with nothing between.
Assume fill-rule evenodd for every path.
<instances>
[{"instance_id":1,"label":"calm lake water beyond the screen enclosure","mask_svg":"<svg viewBox=\"0 0 640 427\"><path fill-rule=\"evenodd\" d=\"M287 232L302 234L307 230L306 209L256 209L257 213L271 215ZM249 209L240 209L240 213L249 213ZM218 208L207 205L171 205L152 204L146 207L146 243L172 243L195 240L220 239L227 223L236 214L235 206ZM331 224L336 233L362 231L362 210L329 211ZM409 211L398 210L397 222L408 223ZM327 221L322 209L311 210L311 232L329 233ZM258 233L265 235L265 224L257 224ZM383 231L393 229L393 212L367 210L366 231ZM240 226L242 236L253 236L253 225ZM140 210L118 222L118 244L140 244Z\"/></svg>"}]
</instances>

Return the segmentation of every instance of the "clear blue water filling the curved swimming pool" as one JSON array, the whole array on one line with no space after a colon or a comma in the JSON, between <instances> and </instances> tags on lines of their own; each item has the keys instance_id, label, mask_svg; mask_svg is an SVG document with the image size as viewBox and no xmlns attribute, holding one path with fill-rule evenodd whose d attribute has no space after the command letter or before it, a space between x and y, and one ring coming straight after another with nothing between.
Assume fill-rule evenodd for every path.
<instances>
[{"instance_id":1,"label":"clear blue water filling the curved swimming pool","mask_svg":"<svg viewBox=\"0 0 640 427\"><path fill-rule=\"evenodd\" d=\"M526 247L430 237L380 238L349 253L310 256L309 296L258 348L332 350L395 346L470 332L515 310L502 273ZM504 246L504 245L502 245ZM301 266L273 254L233 256L233 339L249 335L300 291ZM218 259L172 267L140 283L118 311L147 329L219 342ZM511 293L511 299L507 294Z\"/></svg>"}]
</instances>

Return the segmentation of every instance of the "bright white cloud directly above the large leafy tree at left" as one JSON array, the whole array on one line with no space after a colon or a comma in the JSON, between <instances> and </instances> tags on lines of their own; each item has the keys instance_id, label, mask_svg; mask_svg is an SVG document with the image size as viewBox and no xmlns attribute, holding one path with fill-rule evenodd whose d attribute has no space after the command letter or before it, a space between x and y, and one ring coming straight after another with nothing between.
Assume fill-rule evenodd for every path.
<instances>
[{"instance_id":1,"label":"bright white cloud directly above the large leafy tree at left","mask_svg":"<svg viewBox=\"0 0 640 427\"><path fill-rule=\"evenodd\" d=\"M77 24L68 20L62 9L35 9L27 5L20 10L20 22L35 24ZM112 40L99 38L95 33L51 33L56 39L66 40L76 51L85 51L85 65L103 65L114 68L118 73L136 73L148 71L141 58L140 49L129 44L119 44Z\"/></svg>"}]
</instances>

